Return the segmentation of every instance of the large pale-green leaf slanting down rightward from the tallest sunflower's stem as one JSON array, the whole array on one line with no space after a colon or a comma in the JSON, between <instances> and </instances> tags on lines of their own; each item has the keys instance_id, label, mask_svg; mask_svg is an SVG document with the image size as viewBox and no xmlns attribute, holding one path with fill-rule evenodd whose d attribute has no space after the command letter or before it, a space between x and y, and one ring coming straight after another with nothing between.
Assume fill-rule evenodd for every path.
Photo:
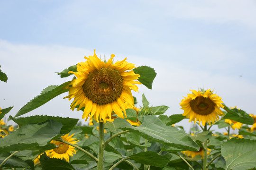
<instances>
[{"instance_id":1,"label":"large pale-green leaf slanting down rightward from the tallest sunflower's stem","mask_svg":"<svg viewBox=\"0 0 256 170\"><path fill-rule=\"evenodd\" d=\"M133 127L126 120L119 118L115 119L114 124L122 130L129 130L151 142L163 143L184 151L198 151L200 148L184 130L166 126L153 115L145 116L144 122L138 127Z\"/></svg>"}]
</instances>

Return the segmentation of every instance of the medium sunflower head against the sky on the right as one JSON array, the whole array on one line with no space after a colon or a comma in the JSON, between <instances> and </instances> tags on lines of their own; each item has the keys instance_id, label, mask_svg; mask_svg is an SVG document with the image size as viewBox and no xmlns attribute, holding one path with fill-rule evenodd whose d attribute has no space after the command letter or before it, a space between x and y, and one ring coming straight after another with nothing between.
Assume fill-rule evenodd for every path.
<instances>
[{"instance_id":1,"label":"medium sunflower head against the sky on the right","mask_svg":"<svg viewBox=\"0 0 256 170\"><path fill-rule=\"evenodd\" d=\"M184 110L183 116L189 118L189 122L193 120L196 123L198 120L199 124L202 122L202 126L204 126L206 122L214 123L219 119L219 116L223 115L219 109L224 107L221 104L221 97L213 94L210 89L191 91L192 94L188 94L180 103L181 109Z\"/></svg>"}]
</instances>

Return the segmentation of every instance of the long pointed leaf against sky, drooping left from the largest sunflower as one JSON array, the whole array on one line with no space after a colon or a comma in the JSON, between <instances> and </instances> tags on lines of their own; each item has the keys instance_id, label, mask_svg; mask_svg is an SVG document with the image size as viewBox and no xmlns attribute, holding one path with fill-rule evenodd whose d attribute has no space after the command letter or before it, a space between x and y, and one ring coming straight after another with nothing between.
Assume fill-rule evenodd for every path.
<instances>
[{"instance_id":1,"label":"long pointed leaf against sky, drooping left from the largest sunflower","mask_svg":"<svg viewBox=\"0 0 256 170\"><path fill-rule=\"evenodd\" d=\"M38 107L42 106L46 102L49 102L56 96L65 93L68 91L68 89L64 89L66 85L68 85L70 81L63 83L62 85L50 85L46 87L40 95L32 99L30 102L28 102L25 106L23 106L20 110L18 110L18 113L14 117L21 116L29 111L32 111L34 109L37 109Z\"/></svg>"}]
</instances>

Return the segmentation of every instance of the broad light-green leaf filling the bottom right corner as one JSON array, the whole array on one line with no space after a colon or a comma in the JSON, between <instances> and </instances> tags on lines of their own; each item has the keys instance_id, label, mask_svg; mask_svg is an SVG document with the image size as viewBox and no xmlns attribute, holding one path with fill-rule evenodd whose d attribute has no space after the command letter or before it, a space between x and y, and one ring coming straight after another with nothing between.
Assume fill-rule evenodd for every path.
<instances>
[{"instance_id":1,"label":"broad light-green leaf filling the bottom right corner","mask_svg":"<svg viewBox=\"0 0 256 170\"><path fill-rule=\"evenodd\" d=\"M226 161L225 170L249 170L256 168L256 142L249 139L230 139L221 146Z\"/></svg>"}]
</instances>

